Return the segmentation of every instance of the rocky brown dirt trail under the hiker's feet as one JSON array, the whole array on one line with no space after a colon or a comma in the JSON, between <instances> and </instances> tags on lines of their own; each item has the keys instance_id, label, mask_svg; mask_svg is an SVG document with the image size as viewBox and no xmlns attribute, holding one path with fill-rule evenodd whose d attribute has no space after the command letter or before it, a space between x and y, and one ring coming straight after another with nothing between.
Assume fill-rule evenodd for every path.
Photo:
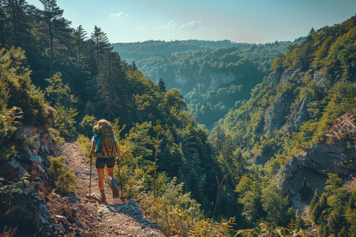
<instances>
[{"instance_id":1,"label":"rocky brown dirt trail under the hiker's feet","mask_svg":"<svg viewBox=\"0 0 356 237\"><path fill-rule=\"evenodd\" d=\"M107 204L99 204L89 197L90 162L85 162L74 143L64 145L66 165L74 169L76 192L72 196L61 197L53 192L47 203L50 216L55 220L52 230L56 236L163 236L157 225L143 213L137 202L130 199L122 204L121 199L113 199L111 188L105 184ZM95 165L92 167L91 192L100 197Z\"/></svg>"}]
</instances>

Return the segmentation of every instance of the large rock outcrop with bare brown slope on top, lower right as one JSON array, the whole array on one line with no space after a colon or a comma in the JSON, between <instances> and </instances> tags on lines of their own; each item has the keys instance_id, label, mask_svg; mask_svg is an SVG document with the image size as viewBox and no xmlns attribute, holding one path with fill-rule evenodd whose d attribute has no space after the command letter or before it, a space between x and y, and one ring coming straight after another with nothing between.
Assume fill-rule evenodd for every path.
<instances>
[{"instance_id":1,"label":"large rock outcrop with bare brown slope on top, lower right","mask_svg":"<svg viewBox=\"0 0 356 237\"><path fill-rule=\"evenodd\" d=\"M283 194L299 194L298 188L305 177L312 190L323 190L328 172L342 178L356 177L356 146L350 136L356 134L356 118L346 113L337 118L326 134L326 141L308 147L283 166L276 182Z\"/></svg>"}]
</instances>

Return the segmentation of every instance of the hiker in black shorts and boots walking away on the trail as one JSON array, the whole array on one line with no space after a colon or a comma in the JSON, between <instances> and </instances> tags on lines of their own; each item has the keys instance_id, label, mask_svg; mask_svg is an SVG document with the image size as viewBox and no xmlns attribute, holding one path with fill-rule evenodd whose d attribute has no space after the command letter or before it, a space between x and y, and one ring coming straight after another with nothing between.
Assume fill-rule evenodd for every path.
<instances>
[{"instance_id":1,"label":"hiker in black shorts and boots walking away on the trail","mask_svg":"<svg viewBox=\"0 0 356 237\"><path fill-rule=\"evenodd\" d=\"M96 147L96 151L94 152ZM120 161L120 149L117 145L117 139L113 133L110 122L105 119L98 121L94 126L94 136L91 139L91 150L89 157L93 155L96 157L95 167L99 176L99 190L101 194L101 202L106 203L104 192L104 167L108 169L108 176L112 185L112 197L119 197L119 189L116 185L116 177L114 175L115 155L117 153L117 162Z\"/></svg>"}]
</instances>

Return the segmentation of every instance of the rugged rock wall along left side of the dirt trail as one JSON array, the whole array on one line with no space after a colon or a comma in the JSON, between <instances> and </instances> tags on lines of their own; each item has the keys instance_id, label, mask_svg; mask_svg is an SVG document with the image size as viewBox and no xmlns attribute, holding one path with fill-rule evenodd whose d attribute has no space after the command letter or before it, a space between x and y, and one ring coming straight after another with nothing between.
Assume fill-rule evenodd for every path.
<instances>
[{"instance_id":1,"label":"rugged rock wall along left side of the dirt trail","mask_svg":"<svg viewBox=\"0 0 356 237\"><path fill-rule=\"evenodd\" d=\"M28 126L19 128L14 134L18 141L25 138L29 139L28 144L19 144L16 147L17 155L7 165L1 167L0 177L3 177L6 182L19 181L25 173L29 173L30 183L23 189L23 193L15 193L14 199L19 201L19 210L26 213L26 218L35 220L37 228L41 226L49 226L49 210L48 205L40 196L41 188L48 187L47 169L51 165L48 156L59 156L60 151L56 142L52 138L48 126ZM41 190L44 192L43 190ZM16 201L15 200L15 201ZM38 221L37 221L38 219ZM7 226L9 227L9 226ZM1 225L0 228L6 228ZM18 226L17 232L26 232L28 226ZM32 229L35 231L36 229Z\"/></svg>"}]
</instances>

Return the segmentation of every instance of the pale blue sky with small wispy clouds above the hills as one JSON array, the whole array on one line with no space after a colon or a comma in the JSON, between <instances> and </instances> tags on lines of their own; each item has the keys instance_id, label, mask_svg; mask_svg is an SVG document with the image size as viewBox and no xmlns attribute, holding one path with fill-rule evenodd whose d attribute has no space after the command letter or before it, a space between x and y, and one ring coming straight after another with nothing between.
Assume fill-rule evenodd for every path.
<instances>
[{"instance_id":1,"label":"pale blue sky with small wispy clouds above the hills","mask_svg":"<svg viewBox=\"0 0 356 237\"><path fill-rule=\"evenodd\" d=\"M43 9L39 0L27 0ZM355 15L355 0L57 0L72 27L99 26L111 43L149 39L293 41Z\"/></svg>"}]
</instances>

